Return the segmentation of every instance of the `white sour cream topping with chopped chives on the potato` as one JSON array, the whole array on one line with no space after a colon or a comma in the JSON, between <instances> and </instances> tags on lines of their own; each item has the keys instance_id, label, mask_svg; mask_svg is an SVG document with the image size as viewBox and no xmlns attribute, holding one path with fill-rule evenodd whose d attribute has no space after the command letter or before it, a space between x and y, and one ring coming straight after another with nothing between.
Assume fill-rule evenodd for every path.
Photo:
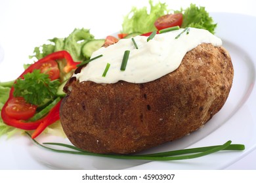
<instances>
[{"instance_id":1,"label":"white sour cream topping with chopped chives on the potato","mask_svg":"<svg viewBox=\"0 0 256 183\"><path fill-rule=\"evenodd\" d=\"M221 46L222 41L205 29L189 28L189 32L179 35L184 29L157 34L147 41L148 37L134 37L138 49L131 39L121 39L107 48L93 52L91 58L102 55L88 63L80 73L74 75L79 82L93 81L100 84L116 83L124 80L131 83L150 82L175 71L186 52L202 43ZM125 71L121 71L121 62L125 50L130 50ZM110 64L106 76L102 76L107 63Z\"/></svg>"}]
</instances>

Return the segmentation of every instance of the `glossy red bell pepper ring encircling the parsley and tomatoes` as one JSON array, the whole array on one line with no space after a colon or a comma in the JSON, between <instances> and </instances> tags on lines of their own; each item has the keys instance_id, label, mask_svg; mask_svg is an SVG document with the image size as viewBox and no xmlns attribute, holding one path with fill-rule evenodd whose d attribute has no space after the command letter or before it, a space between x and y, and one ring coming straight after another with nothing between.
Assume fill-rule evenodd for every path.
<instances>
[{"instance_id":1,"label":"glossy red bell pepper ring encircling the parsley and tomatoes","mask_svg":"<svg viewBox=\"0 0 256 183\"><path fill-rule=\"evenodd\" d=\"M75 62L70 54L66 51L59 51L59 52L54 52L53 54L49 54L45 58L39 59L37 62L33 63L20 75L18 78L24 78L24 75L27 73L32 73L32 71L37 67L38 64L47 62L49 60L56 60L56 59L66 59L66 66L64 67L64 72L68 73L72 71L72 69L77 68L77 64L80 62ZM10 93L9 93L9 99L7 99L7 102L3 106L1 110L1 118L3 119L3 122L7 125L11 125L12 127L17 127L20 129L24 130L33 130L36 129L33 137L37 137L44 129L50 124L53 124L57 120L59 120L59 108L60 108L60 102L55 105L55 107L52 108L52 110L47 114L47 116L41 118L40 120L37 120L35 122L26 122L24 120L16 120L14 118L11 118L10 116L7 115L5 112L5 108L7 107L9 101L14 97L13 95L14 92L14 87L12 86Z\"/></svg>"}]
</instances>

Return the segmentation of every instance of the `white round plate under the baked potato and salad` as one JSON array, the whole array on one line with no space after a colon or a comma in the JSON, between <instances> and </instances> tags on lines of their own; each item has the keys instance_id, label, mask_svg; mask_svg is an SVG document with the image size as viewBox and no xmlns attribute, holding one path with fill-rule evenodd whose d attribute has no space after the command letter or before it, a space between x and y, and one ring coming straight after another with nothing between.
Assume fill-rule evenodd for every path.
<instances>
[{"instance_id":1,"label":"white round plate under the baked potato and salad","mask_svg":"<svg viewBox=\"0 0 256 183\"><path fill-rule=\"evenodd\" d=\"M222 144L228 140L245 144L243 152L218 152L203 158L182 161L132 161L93 156L77 156L58 154L35 146L28 138L0 139L7 146L1 153L16 161L19 169L224 169L256 147L256 92L255 64L256 54L254 43L256 24L243 26L236 22L256 22L255 17L240 14L212 13L213 20L218 22L216 35L223 39L223 46L230 52L234 65L234 83L232 90L221 111L209 123L187 137L169 142L148 152L158 152L198 146ZM41 137L40 142L69 142L61 137ZM20 154L19 152L22 152ZM22 156L22 158L21 158ZM9 158L8 158L9 159ZM7 161L3 159L5 164ZM10 159L8 160L10 163ZM30 162L30 163L28 163ZM12 169L8 164L0 169ZM24 165L27 163L27 165Z\"/></svg>"}]
</instances>

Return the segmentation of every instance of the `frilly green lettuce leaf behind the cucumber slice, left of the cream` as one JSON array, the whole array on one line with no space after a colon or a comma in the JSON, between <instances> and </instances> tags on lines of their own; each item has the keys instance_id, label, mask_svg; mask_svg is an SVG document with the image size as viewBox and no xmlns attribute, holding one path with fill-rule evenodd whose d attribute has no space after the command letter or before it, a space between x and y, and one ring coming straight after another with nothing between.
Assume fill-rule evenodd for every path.
<instances>
[{"instance_id":1,"label":"frilly green lettuce leaf behind the cucumber slice, left of the cream","mask_svg":"<svg viewBox=\"0 0 256 183\"><path fill-rule=\"evenodd\" d=\"M81 48L83 45L94 39L94 35L90 33L89 29L74 29L72 33L66 38L53 38L49 39L50 44L43 44L41 46L35 47L33 52L34 55L30 58L41 59L45 56L57 52L60 50L66 50L70 53L74 61L83 61L85 56L81 53Z\"/></svg>"}]
</instances>

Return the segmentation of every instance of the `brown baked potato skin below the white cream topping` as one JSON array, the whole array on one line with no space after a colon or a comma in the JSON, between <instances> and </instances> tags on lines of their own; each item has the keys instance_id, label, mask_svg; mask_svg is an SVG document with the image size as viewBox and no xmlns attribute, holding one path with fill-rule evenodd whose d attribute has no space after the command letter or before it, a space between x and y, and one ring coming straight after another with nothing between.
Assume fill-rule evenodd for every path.
<instances>
[{"instance_id":1,"label":"brown baked potato skin below the white cream topping","mask_svg":"<svg viewBox=\"0 0 256 183\"><path fill-rule=\"evenodd\" d=\"M83 150L140 152L179 139L210 120L223 107L233 75L228 52L203 43L184 56L176 71L152 82L102 85L70 78L61 124Z\"/></svg>"}]
</instances>

